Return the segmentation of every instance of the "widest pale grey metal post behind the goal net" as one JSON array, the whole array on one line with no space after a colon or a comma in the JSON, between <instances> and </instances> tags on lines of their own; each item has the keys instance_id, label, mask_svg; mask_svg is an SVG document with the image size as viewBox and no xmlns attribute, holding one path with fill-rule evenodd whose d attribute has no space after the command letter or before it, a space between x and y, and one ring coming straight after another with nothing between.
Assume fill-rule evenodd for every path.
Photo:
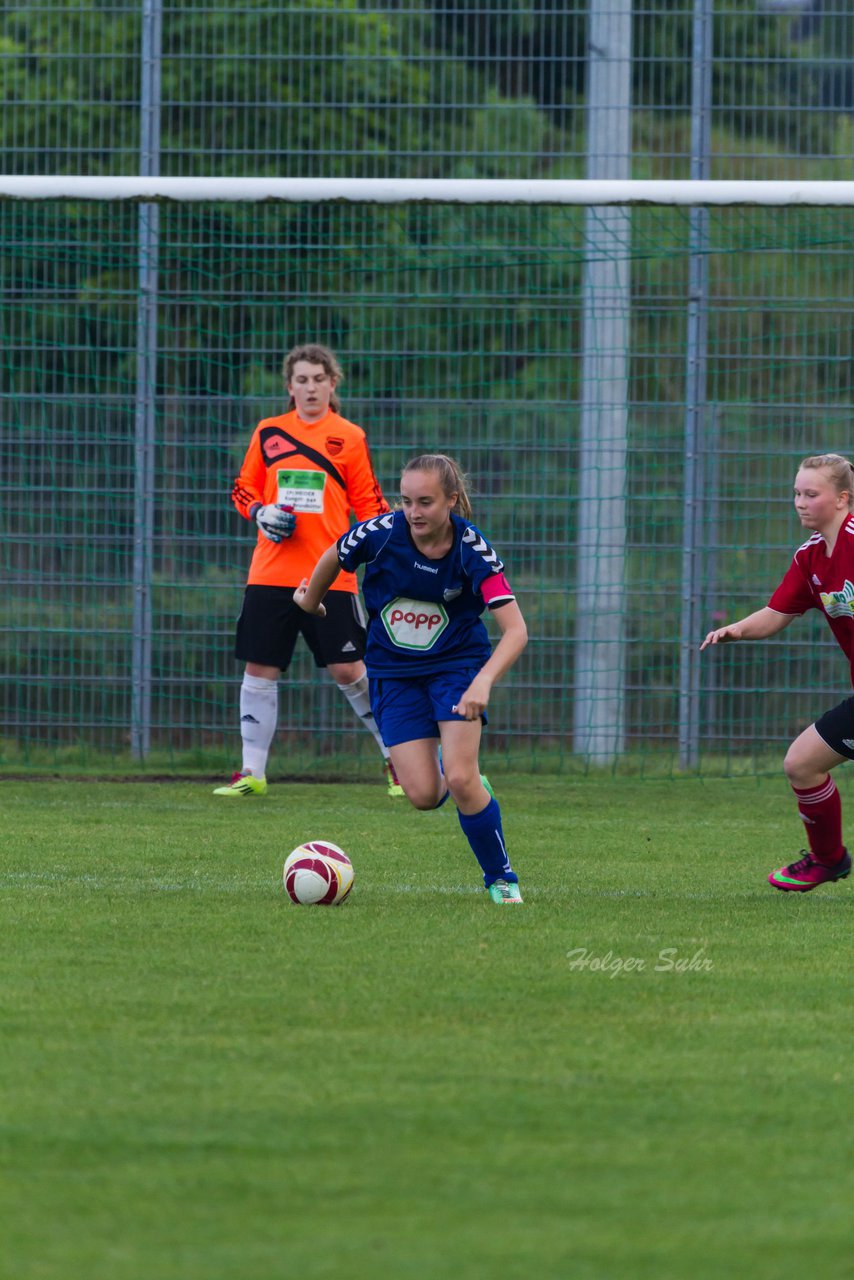
<instances>
[{"instance_id":1,"label":"widest pale grey metal post behind the goal net","mask_svg":"<svg viewBox=\"0 0 854 1280\"><path fill-rule=\"evenodd\" d=\"M631 3L590 10L588 178L631 172ZM589 209L581 324L581 428L574 748L607 764L625 749L626 456L631 214Z\"/></svg>"}]
</instances>

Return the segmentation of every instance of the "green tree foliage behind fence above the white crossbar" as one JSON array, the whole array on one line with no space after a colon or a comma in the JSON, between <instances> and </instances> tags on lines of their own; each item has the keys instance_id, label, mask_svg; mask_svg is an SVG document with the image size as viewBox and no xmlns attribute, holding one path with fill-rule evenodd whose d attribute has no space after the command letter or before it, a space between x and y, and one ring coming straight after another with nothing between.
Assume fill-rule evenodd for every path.
<instances>
[{"instance_id":1,"label":"green tree foliage behind fence above the white crossbar","mask_svg":"<svg viewBox=\"0 0 854 1280\"><path fill-rule=\"evenodd\" d=\"M586 23L584 8L521 0L173 6L163 173L513 177L525 165L548 175L584 152ZM6 8L3 169L137 172L141 32L138 0ZM817 32L798 41L790 17L758 13L753 0L716 13L713 100L730 134L759 137L767 152L782 142L832 154L836 111L851 101L854 24L823 14ZM690 101L690 10L681 0L638 9L632 50L636 110L668 129Z\"/></svg>"}]
</instances>

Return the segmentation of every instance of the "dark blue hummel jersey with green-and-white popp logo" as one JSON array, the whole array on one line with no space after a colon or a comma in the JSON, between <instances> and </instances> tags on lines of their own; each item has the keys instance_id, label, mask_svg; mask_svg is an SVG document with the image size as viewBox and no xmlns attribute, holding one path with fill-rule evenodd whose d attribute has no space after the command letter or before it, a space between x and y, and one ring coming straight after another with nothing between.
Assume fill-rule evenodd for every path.
<instances>
[{"instance_id":1,"label":"dark blue hummel jersey with green-and-white popp logo","mask_svg":"<svg viewBox=\"0 0 854 1280\"><path fill-rule=\"evenodd\" d=\"M453 547L428 559L402 511L353 525L338 539L341 567L365 566L369 676L406 677L483 667L492 645L480 614L513 599L504 566L470 521L451 516Z\"/></svg>"}]
</instances>

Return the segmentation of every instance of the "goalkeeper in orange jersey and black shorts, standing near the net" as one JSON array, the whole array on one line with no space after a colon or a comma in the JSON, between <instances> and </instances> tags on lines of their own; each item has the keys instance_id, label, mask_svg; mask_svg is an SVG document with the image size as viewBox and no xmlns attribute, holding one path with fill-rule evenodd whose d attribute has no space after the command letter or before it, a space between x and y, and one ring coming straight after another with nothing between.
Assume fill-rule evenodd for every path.
<instances>
[{"instance_id":1,"label":"goalkeeper in orange jersey and black shorts, standing near the net","mask_svg":"<svg viewBox=\"0 0 854 1280\"><path fill-rule=\"evenodd\" d=\"M402 795L371 714L365 675L365 622L353 573L337 576L325 618L294 604L293 591L330 541L350 527L351 512L370 520L388 511L374 475L365 433L338 413L341 366L326 347L294 347L283 366L291 397L287 413L259 422L250 440L232 500L257 526L243 607L237 620L236 657L246 663L241 686L243 759L232 781L214 795L266 792L266 763L278 719L278 681L297 636L315 666L325 667L385 762L391 795Z\"/></svg>"}]
</instances>

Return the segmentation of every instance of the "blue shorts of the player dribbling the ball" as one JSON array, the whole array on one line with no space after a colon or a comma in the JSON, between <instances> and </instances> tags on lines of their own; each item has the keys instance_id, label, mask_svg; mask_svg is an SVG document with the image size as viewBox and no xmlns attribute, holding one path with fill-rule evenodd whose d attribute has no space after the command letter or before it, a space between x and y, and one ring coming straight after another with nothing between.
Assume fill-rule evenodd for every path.
<instances>
[{"instance_id":1,"label":"blue shorts of the player dribbling the ball","mask_svg":"<svg viewBox=\"0 0 854 1280\"><path fill-rule=\"evenodd\" d=\"M451 708L457 705L479 671L480 667L466 667L435 676L410 676L408 680L371 676L371 710L385 746L438 737L439 721L463 721L465 716L457 716ZM485 714L480 719L487 723Z\"/></svg>"}]
</instances>

